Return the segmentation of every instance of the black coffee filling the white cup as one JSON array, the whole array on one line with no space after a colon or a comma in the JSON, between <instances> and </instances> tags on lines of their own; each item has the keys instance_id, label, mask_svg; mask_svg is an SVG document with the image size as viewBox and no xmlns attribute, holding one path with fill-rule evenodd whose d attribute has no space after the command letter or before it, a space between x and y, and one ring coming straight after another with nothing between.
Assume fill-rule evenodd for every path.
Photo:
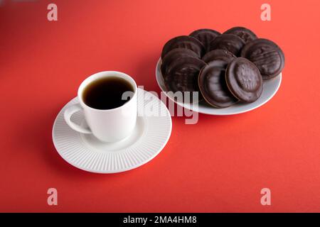
<instances>
[{"instance_id":1,"label":"black coffee filling the white cup","mask_svg":"<svg viewBox=\"0 0 320 227\"><path fill-rule=\"evenodd\" d=\"M124 92L129 93L127 99L122 99ZM114 109L130 100L134 88L127 80L119 77L96 79L85 87L82 99L87 106L94 109Z\"/></svg>"}]
</instances>

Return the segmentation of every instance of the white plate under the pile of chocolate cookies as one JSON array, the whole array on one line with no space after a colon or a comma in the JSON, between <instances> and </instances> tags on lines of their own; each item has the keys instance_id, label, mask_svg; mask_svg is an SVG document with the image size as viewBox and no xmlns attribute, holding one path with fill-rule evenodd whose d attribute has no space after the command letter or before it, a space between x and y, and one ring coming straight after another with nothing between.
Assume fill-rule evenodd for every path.
<instances>
[{"instance_id":1,"label":"white plate under the pile of chocolate cookies","mask_svg":"<svg viewBox=\"0 0 320 227\"><path fill-rule=\"evenodd\" d=\"M197 106L193 106L188 103L182 103L179 101L175 101L174 96L171 94L166 94L171 101L174 101L179 106L183 108L190 109L192 111L197 111L201 114L210 114L210 115L232 115L232 114L241 114L247 111L252 111L252 109L256 109L263 104L267 103L274 94L277 93L282 79L282 73L280 73L277 77L273 79L269 79L263 82L263 92L257 101L252 102L250 104L238 103L233 106L227 108L215 108L206 103L206 101L201 101ZM164 85L164 78L161 75L161 59L159 59L156 64L156 82L158 82L160 89L162 92L168 92L166 86Z\"/></svg>"}]
</instances>

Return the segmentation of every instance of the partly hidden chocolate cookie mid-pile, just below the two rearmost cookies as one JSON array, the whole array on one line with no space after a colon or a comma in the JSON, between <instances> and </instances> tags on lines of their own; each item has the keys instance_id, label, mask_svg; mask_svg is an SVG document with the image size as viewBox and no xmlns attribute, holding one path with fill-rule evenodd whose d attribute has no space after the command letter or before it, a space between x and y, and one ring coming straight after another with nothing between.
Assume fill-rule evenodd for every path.
<instances>
[{"instance_id":1,"label":"partly hidden chocolate cookie mid-pile, just below the two rearmost cookies","mask_svg":"<svg viewBox=\"0 0 320 227\"><path fill-rule=\"evenodd\" d=\"M239 56L245 41L237 35L222 34L210 43L210 50L228 50Z\"/></svg>"}]
</instances>

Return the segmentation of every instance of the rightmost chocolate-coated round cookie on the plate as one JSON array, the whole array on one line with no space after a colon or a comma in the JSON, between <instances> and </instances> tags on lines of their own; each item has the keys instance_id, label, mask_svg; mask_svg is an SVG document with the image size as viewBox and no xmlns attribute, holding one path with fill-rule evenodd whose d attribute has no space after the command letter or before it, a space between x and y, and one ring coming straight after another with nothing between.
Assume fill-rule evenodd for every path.
<instances>
[{"instance_id":1,"label":"rightmost chocolate-coated round cookie on the plate","mask_svg":"<svg viewBox=\"0 0 320 227\"><path fill-rule=\"evenodd\" d=\"M255 63L263 79L276 77L284 68L284 53L277 44L264 38L247 43L241 57Z\"/></svg>"}]
</instances>

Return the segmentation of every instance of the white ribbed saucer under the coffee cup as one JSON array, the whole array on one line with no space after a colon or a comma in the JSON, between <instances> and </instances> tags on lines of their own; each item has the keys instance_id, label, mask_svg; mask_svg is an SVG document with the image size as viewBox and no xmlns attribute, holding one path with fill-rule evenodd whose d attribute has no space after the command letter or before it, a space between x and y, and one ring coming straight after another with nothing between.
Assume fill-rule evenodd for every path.
<instances>
[{"instance_id":1,"label":"white ribbed saucer under the coffee cup","mask_svg":"<svg viewBox=\"0 0 320 227\"><path fill-rule=\"evenodd\" d=\"M91 134L73 131L63 118L68 106L76 104L78 98L66 104L53 124L53 144L63 159L81 170L97 173L113 173L132 170L156 157L171 135L171 116L166 106L150 92L138 89L137 126L129 138L117 143L102 143ZM146 109L152 109L148 112ZM156 113L143 114L143 113ZM85 124L81 111L73 115L72 121Z\"/></svg>"}]
</instances>

